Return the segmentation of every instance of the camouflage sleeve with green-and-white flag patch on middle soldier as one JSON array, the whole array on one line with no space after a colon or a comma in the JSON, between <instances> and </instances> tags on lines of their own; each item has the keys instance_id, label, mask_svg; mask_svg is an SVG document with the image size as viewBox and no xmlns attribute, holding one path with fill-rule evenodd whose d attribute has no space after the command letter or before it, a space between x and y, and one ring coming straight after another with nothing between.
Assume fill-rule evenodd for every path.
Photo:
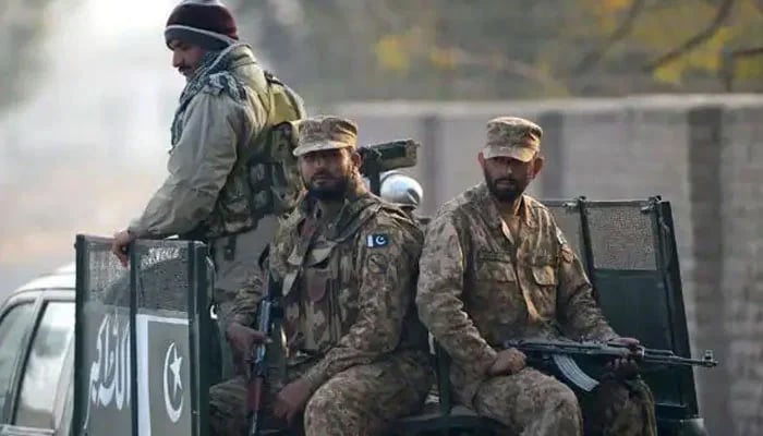
<instances>
[{"instance_id":1,"label":"camouflage sleeve with green-and-white flag patch on middle soldier","mask_svg":"<svg viewBox=\"0 0 763 436\"><path fill-rule=\"evenodd\" d=\"M414 226L368 226L360 233L359 313L349 332L304 374L313 390L348 367L368 364L400 342L413 299L423 237Z\"/></svg>"}]
</instances>

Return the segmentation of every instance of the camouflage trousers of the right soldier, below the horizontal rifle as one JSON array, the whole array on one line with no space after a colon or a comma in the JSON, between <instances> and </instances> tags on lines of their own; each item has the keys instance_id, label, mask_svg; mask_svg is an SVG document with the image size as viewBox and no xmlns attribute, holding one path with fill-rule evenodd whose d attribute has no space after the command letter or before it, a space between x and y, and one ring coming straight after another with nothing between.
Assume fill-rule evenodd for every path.
<instances>
[{"instance_id":1,"label":"camouflage trousers of the right soldier, below the horizontal rifle","mask_svg":"<svg viewBox=\"0 0 763 436\"><path fill-rule=\"evenodd\" d=\"M654 399L641 380L605 377L578 393L555 377L526 367L480 385L474 410L522 436L654 436Z\"/></svg>"}]
</instances>

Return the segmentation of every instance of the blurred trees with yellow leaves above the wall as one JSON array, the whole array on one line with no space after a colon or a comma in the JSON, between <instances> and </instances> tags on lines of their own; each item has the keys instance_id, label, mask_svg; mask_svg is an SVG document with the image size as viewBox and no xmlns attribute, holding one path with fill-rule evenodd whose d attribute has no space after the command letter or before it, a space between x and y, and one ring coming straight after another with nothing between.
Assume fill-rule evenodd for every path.
<instances>
[{"instance_id":1,"label":"blurred trees with yellow leaves above the wall","mask_svg":"<svg viewBox=\"0 0 763 436\"><path fill-rule=\"evenodd\" d=\"M763 57L731 55L763 46L761 3L270 0L239 12L306 98L505 99L716 92L729 74L762 89Z\"/></svg>"}]
</instances>

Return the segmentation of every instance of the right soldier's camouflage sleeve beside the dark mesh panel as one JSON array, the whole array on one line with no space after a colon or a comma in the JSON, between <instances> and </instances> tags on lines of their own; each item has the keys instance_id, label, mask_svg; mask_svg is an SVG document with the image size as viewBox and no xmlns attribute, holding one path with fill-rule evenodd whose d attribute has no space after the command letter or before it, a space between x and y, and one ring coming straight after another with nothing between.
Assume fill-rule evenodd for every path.
<instances>
[{"instance_id":1,"label":"right soldier's camouflage sleeve beside the dark mesh panel","mask_svg":"<svg viewBox=\"0 0 763 436\"><path fill-rule=\"evenodd\" d=\"M593 298L583 264L557 229L559 240L559 288L557 313L565 336L573 339L609 340L618 335L609 327Z\"/></svg>"}]
</instances>

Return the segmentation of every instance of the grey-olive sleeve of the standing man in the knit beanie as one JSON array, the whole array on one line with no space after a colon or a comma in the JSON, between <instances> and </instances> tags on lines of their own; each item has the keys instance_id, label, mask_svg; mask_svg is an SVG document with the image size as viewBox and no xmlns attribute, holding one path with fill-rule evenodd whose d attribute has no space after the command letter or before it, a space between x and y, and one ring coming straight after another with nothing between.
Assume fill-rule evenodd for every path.
<instances>
[{"instance_id":1,"label":"grey-olive sleeve of the standing man in the knit beanie","mask_svg":"<svg viewBox=\"0 0 763 436\"><path fill-rule=\"evenodd\" d=\"M199 93L190 104L183 134L170 153L168 178L129 230L138 238L165 238L196 228L213 210L237 160L241 135L253 118L225 95Z\"/></svg>"}]
</instances>

